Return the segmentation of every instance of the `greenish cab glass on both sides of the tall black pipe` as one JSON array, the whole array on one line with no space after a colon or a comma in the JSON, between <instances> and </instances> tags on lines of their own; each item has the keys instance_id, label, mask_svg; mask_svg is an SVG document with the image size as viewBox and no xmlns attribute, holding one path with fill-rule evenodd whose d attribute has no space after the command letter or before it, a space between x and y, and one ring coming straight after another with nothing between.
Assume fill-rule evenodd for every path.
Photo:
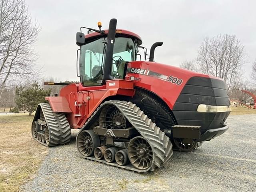
<instances>
[{"instance_id":1,"label":"greenish cab glass on both sides of the tall black pipe","mask_svg":"<svg viewBox=\"0 0 256 192\"><path fill-rule=\"evenodd\" d=\"M124 78L126 62L134 61L136 46L131 38L117 37L114 42L111 76ZM106 52L106 37L81 46L80 80L84 86L102 85L102 65Z\"/></svg>"}]
</instances>

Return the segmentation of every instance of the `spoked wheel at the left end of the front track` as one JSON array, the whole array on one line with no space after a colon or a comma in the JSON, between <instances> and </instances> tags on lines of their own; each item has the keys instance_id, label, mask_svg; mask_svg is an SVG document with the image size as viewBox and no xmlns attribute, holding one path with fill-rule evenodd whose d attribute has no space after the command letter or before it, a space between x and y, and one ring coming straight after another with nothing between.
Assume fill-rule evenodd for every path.
<instances>
[{"instance_id":1,"label":"spoked wheel at the left end of the front track","mask_svg":"<svg viewBox=\"0 0 256 192\"><path fill-rule=\"evenodd\" d=\"M78 134L76 147L82 156L89 157L96 147L100 146L100 138L93 130L85 130Z\"/></svg>"}]
</instances>

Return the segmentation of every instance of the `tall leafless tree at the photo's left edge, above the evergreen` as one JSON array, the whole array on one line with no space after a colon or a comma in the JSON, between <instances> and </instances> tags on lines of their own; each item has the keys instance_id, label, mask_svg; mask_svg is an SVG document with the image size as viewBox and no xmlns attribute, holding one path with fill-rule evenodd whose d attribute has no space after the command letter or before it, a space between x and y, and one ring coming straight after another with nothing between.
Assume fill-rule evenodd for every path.
<instances>
[{"instance_id":1,"label":"tall leafless tree at the photo's left edge, above the evergreen","mask_svg":"<svg viewBox=\"0 0 256 192\"><path fill-rule=\"evenodd\" d=\"M38 72L34 54L38 32L24 0L0 0L0 93L17 78Z\"/></svg>"}]
</instances>

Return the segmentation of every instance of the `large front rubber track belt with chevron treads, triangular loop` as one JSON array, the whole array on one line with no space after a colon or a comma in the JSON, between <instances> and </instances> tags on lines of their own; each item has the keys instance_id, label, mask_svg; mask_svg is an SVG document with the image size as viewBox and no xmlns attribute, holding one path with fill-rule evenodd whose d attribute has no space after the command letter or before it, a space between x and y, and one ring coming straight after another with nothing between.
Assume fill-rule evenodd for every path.
<instances>
[{"instance_id":1,"label":"large front rubber track belt with chevron treads, triangular loop","mask_svg":"<svg viewBox=\"0 0 256 192\"><path fill-rule=\"evenodd\" d=\"M114 100L114 101L110 100L110 101L104 102L94 112L94 114L92 114L92 116L86 122L86 124L80 130L80 132L82 130L86 130L86 129L90 128L90 125L92 124L92 122L94 120L96 120L96 118L98 117L98 115L100 113L100 109L108 104L116 106L116 108L118 108L118 110L120 110L120 112L122 112L122 114L124 114L126 119L132 124L132 126L134 126L134 128L136 128L136 130L141 134L141 136L143 136L143 138L148 141L148 143L152 147L153 154L154 154L152 166L146 170L139 170L139 169L134 168L131 165L130 166L129 165L128 166L119 166L116 163L108 163L105 160L97 160L94 157L86 157L86 156L83 156L82 154L80 154L80 152L79 152L80 156L82 156L83 158L89 159L89 160L94 160L97 162L109 164L111 166L117 166L119 168L124 168L124 169L128 169L128 170L133 170L136 172L148 172L149 170L154 171L155 168L161 168L162 166L164 166L164 164L166 164L170 160L170 158L173 154L172 143L170 142L170 138L168 136L166 136L164 134L164 132L162 132L160 130L160 128L157 127L156 124L153 123L152 120L150 118L148 118L148 116L146 114L144 114L144 112L142 110L140 110L140 108L137 107L132 102L116 101L116 100Z\"/></svg>"}]
</instances>

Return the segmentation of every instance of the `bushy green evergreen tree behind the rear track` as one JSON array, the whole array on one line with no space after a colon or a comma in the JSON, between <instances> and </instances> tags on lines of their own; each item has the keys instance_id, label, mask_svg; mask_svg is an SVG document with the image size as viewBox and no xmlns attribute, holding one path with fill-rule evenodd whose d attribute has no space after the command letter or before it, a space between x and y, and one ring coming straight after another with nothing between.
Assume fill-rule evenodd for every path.
<instances>
[{"instance_id":1,"label":"bushy green evergreen tree behind the rear track","mask_svg":"<svg viewBox=\"0 0 256 192\"><path fill-rule=\"evenodd\" d=\"M16 88L15 103L19 110L27 110L31 115L36 110L39 103L45 102L45 97L51 93L51 90L44 90L38 82L34 82L30 88Z\"/></svg>"}]
</instances>

